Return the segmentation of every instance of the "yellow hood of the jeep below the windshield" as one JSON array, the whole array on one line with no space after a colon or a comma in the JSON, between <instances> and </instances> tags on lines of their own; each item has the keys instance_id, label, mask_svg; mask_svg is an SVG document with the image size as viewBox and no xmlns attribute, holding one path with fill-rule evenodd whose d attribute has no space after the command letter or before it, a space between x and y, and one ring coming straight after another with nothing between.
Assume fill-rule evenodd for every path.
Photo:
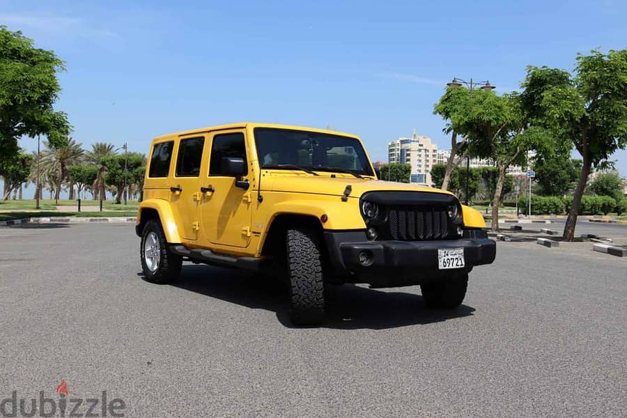
<instances>
[{"instance_id":1,"label":"yellow hood of the jeep below the windshield","mask_svg":"<svg viewBox=\"0 0 627 418\"><path fill-rule=\"evenodd\" d=\"M348 185L351 187L349 197L357 198L362 196L365 192L375 190L451 194L446 190L413 185L410 183L396 183L393 181L370 180L368 178L362 179L348 176L332 178L325 174L320 174L320 176L265 176L262 180L261 188L266 190L270 189L272 192L342 196Z\"/></svg>"}]
</instances>

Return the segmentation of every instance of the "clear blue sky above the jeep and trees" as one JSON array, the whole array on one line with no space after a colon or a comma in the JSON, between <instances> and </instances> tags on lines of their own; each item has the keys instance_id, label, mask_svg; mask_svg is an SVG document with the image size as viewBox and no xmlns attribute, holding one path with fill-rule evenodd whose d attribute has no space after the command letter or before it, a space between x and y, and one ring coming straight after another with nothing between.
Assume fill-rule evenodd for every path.
<instances>
[{"instance_id":1,"label":"clear blue sky above the jeep and trees","mask_svg":"<svg viewBox=\"0 0 627 418\"><path fill-rule=\"evenodd\" d=\"M0 24L66 62L58 109L85 146L146 153L158 134L237 121L449 148L433 104L452 77L518 88L525 67L627 47L606 1L3 1ZM32 140L22 146L33 149ZM614 155L627 176L627 151Z\"/></svg>"}]
</instances>

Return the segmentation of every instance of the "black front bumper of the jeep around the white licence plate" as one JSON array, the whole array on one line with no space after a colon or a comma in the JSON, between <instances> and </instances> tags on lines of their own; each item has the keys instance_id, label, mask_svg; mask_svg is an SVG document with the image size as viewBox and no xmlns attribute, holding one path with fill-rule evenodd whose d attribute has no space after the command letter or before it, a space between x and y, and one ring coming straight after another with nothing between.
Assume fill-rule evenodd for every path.
<instances>
[{"instance_id":1,"label":"black front bumper of the jeep around the white licence plate","mask_svg":"<svg viewBox=\"0 0 627 418\"><path fill-rule=\"evenodd\" d=\"M463 238L442 241L369 241L362 231L325 232L325 242L336 270L378 276L385 273L389 281L394 281L395 275L435 278L463 274L475 265L492 263L496 256L496 243L483 230L466 230ZM438 249L442 248L463 248L465 267L438 270Z\"/></svg>"}]
</instances>

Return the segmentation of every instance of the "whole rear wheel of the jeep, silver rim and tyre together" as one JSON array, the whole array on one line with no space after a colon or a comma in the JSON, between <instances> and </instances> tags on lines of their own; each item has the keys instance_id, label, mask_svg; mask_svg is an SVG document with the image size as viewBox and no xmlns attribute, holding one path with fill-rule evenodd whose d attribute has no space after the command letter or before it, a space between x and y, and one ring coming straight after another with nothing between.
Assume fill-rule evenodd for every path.
<instances>
[{"instance_id":1,"label":"whole rear wheel of the jeep, silver rim and tyre together","mask_svg":"<svg viewBox=\"0 0 627 418\"><path fill-rule=\"evenodd\" d=\"M178 279L183 258L168 250L161 223L150 219L141 233L139 254L144 279L150 283L167 284Z\"/></svg>"}]
</instances>

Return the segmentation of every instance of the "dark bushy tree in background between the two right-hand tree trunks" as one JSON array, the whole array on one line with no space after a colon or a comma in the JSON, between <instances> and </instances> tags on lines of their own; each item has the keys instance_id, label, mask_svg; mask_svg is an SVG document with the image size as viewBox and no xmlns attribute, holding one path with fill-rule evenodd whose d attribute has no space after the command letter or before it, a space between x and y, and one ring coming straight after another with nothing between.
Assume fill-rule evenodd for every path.
<instances>
[{"instance_id":1,"label":"dark bushy tree in background between the two right-hand tree trunks","mask_svg":"<svg viewBox=\"0 0 627 418\"><path fill-rule=\"evenodd\" d=\"M572 160L570 152L552 157L537 155L534 162L536 193L541 196L564 196L570 192L581 171L581 160Z\"/></svg>"}]
</instances>

